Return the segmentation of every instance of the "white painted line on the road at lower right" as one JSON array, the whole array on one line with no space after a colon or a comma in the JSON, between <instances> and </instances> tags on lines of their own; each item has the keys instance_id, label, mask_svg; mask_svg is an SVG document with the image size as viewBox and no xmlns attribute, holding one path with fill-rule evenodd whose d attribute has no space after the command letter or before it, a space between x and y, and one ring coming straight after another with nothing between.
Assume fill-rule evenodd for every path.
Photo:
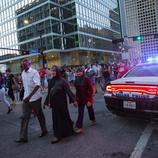
<instances>
[{"instance_id":1,"label":"white painted line on the road at lower right","mask_svg":"<svg viewBox=\"0 0 158 158\"><path fill-rule=\"evenodd\" d=\"M143 131L141 137L139 138L134 151L132 152L130 158L141 158L142 153L148 143L148 140L152 134L152 125L148 124L145 130Z\"/></svg>"}]
</instances>

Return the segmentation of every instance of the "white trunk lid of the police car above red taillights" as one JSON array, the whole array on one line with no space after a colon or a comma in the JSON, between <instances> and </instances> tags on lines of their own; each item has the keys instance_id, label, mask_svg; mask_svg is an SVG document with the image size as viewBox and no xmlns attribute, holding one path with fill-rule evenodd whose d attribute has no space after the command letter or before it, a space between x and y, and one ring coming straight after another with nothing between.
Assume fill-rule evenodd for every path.
<instances>
[{"instance_id":1,"label":"white trunk lid of the police car above red taillights","mask_svg":"<svg viewBox=\"0 0 158 158\"><path fill-rule=\"evenodd\" d=\"M111 81L111 84L158 85L158 76L154 77L122 77Z\"/></svg>"}]
</instances>

